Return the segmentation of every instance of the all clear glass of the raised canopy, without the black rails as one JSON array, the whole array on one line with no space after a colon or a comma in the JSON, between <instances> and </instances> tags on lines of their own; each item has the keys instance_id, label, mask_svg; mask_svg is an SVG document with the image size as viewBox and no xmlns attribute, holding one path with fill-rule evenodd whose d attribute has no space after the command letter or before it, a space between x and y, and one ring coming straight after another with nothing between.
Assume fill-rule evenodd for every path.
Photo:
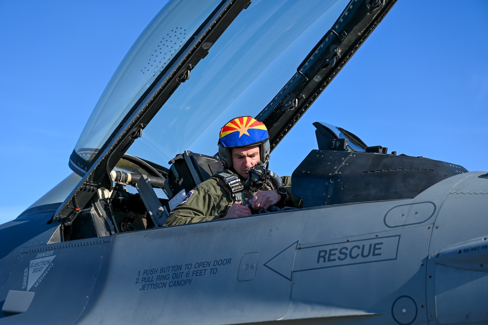
<instances>
[{"instance_id":1,"label":"all clear glass of the raised canopy, without the black rails","mask_svg":"<svg viewBox=\"0 0 488 325\"><path fill-rule=\"evenodd\" d=\"M253 0L127 153L160 165L184 150L214 154L228 120L256 116L295 74L348 0ZM144 29L93 110L75 152L90 161L178 49L221 3L173 0Z\"/></svg>"}]
</instances>

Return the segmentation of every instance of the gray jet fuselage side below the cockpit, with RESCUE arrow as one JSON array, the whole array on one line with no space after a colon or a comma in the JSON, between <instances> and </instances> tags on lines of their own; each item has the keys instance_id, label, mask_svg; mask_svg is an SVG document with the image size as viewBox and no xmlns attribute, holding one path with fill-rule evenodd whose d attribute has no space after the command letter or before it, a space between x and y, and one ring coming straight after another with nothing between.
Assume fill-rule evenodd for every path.
<instances>
[{"instance_id":1,"label":"gray jet fuselage side below the cockpit, with RESCUE arrow","mask_svg":"<svg viewBox=\"0 0 488 325\"><path fill-rule=\"evenodd\" d=\"M0 324L487 322L481 174L451 176L412 199L59 243L50 243L59 224L46 225L49 214L20 217L0 231L40 234L18 238L1 260L0 301L9 290L35 296Z\"/></svg>"}]
</instances>

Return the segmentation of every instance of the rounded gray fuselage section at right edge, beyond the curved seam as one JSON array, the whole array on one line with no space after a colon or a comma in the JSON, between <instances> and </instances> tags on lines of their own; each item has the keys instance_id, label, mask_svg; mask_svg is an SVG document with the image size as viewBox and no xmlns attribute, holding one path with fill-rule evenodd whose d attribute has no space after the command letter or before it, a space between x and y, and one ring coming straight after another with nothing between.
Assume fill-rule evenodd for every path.
<instances>
[{"instance_id":1,"label":"rounded gray fuselage section at right edge, beyond the curved seam","mask_svg":"<svg viewBox=\"0 0 488 325\"><path fill-rule=\"evenodd\" d=\"M427 260L429 324L488 322L488 178L456 183L435 220ZM479 322L479 323L477 323Z\"/></svg>"}]
</instances>

